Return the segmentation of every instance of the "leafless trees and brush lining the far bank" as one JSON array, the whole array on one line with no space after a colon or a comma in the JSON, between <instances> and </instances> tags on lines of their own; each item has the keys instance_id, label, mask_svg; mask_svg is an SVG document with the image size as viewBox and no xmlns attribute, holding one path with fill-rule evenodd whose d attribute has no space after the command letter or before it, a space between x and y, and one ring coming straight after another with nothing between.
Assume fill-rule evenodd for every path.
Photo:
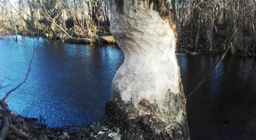
<instances>
[{"instance_id":1,"label":"leafless trees and brush lining the far bank","mask_svg":"<svg viewBox=\"0 0 256 140\"><path fill-rule=\"evenodd\" d=\"M0 1L0 32L38 34L47 38L90 38L111 35L108 0L9 0ZM118 11L131 3L118 0ZM133 1L132 3L134 3ZM194 51L225 50L226 40L237 28L231 43L234 53L255 53L255 0L157 0L140 1L166 18L172 10L178 48ZM137 3L137 5L140 4ZM168 3L167 7L162 7ZM170 15L171 16L171 15ZM171 19L171 18L169 18ZM14 26L15 25L15 26ZM16 28L16 29L15 29ZM16 40L14 38L14 40Z\"/></svg>"}]
</instances>

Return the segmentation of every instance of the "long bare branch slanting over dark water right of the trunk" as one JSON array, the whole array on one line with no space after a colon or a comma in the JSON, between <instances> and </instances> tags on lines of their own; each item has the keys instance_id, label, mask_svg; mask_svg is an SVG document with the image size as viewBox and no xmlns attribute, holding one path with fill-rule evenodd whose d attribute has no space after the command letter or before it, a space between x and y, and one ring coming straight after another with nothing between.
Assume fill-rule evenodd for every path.
<instances>
[{"instance_id":1,"label":"long bare branch slanting over dark water right of the trunk","mask_svg":"<svg viewBox=\"0 0 256 140\"><path fill-rule=\"evenodd\" d=\"M235 29L235 30L233 31L233 33L229 36L229 38L228 38L228 40L227 40L227 44L226 44L226 49L225 49L225 51L223 52L222 56L220 57L219 61L215 64L214 68L209 72L208 75L206 75L206 76L197 84L197 86L196 86L193 90L191 90L190 92L188 92L188 94L186 94L186 98L187 98L188 96L190 96L191 94L195 93L195 91L197 91L197 90L199 89L199 87L203 84L203 82L204 82L206 79L208 79L208 78L212 75L212 73L214 72L214 70L220 65L221 61L224 59L224 57L225 57L225 55L226 55L226 53L227 53L227 51L228 51L228 49L229 49L229 43L230 43L231 39L233 38L233 36L235 35L236 31L237 31L237 30Z\"/></svg>"}]
</instances>

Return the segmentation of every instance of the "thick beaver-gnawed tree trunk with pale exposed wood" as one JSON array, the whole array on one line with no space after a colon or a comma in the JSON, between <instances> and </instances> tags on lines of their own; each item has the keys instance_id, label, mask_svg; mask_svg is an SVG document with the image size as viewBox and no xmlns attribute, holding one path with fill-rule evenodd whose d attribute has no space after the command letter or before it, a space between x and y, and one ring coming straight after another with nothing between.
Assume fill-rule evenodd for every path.
<instances>
[{"instance_id":1,"label":"thick beaver-gnawed tree trunk with pale exposed wood","mask_svg":"<svg viewBox=\"0 0 256 140\"><path fill-rule=\"evenodd\" d=\"M125 58L106 117L121 139L189 139L175 54L178 0L169 1L110 0L111 32Z\"/></svg>"}]
</instances>

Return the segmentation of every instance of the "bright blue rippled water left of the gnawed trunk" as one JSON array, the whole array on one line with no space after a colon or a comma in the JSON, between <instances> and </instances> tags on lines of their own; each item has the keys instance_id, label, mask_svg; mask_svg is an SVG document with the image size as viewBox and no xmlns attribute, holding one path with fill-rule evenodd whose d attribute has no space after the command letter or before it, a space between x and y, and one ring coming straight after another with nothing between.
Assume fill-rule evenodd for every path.
<instances>
[{"instance_id":1,"label":"bright blue rippled water left of the gnawed trunk","mask_svg":"<svg viewBox=\"0 0 256 140\"><path fill-rule=\"evenodd\" d=\"M28 70L33 39L0 40L2 96L18 85ZM74 45L35 38L35 51L27 81L9 97L9 108L53 126L86 126L104 114L112 79L123 62L116 45ZM1 81L0 80L0 81Z\"/></svg>"}]
</instances>

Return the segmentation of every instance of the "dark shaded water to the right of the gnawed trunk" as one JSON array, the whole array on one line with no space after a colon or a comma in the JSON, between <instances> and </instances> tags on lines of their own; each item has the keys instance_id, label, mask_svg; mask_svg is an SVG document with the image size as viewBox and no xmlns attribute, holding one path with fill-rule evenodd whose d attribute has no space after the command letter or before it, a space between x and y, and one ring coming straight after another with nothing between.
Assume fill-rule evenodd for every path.
<instances>
[{"instance_id":1,"label":"dark shaded water to the right of the gnawed trunk","mask_svg":"<svg viewBox=\"0 0 256 140\"><path fill-rule=\"evenodd\" d=\"M218 55L178 55L184 90L210 71ZM191 139L251 140L256 138L255 58L227 55L213 75L187 99Z\"/></svg>"}]
</instances>

